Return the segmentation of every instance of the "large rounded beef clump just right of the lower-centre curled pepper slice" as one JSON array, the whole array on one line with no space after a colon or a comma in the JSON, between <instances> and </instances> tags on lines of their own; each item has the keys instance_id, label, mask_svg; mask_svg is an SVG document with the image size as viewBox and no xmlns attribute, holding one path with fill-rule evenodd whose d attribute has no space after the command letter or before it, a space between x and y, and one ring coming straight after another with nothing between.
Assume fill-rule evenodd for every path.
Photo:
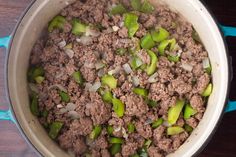
<instances>
[{"instance_id":1,"label":"large rounded beef clump just right of the lower-centre curled pepper slice","mask_svg":"<svg viewBox=\"0 0 236 157\"><path fill-rule=\"evenodd\" d=\"M125 113L129 116L141 117L148 111L148 106L141 96L127 95L124 102L126 102Z\"/></svg>"}]
</instances>

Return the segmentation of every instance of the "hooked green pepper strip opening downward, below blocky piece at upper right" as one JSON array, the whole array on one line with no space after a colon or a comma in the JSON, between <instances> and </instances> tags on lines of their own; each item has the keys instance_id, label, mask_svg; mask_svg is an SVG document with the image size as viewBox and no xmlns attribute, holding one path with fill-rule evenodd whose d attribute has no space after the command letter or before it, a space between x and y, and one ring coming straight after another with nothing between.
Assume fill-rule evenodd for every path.
<instances>
[{"instance_id":1,"label":"hooked green pepper strip opening downward, below blocky piece at upper right","mask_svg":"<svg viewBox=\"0 0 236 157\"><path fill-rule=\"evenodd\" d=\"M165 50L168 49L169 51L172 51L175 48L176 40L170 39L170 40L163 40L160 45L158 46L158 51L160 55L165 55ZM169 48L168 48L169 47Z\"/></svg>"}]
</instances>

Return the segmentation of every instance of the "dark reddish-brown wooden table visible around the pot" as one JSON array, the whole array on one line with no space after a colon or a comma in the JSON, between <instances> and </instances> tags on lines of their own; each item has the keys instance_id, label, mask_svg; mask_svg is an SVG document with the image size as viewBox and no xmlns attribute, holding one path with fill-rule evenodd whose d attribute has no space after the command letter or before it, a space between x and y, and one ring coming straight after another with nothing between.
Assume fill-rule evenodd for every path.
<instances>
[{"instance_id":1,"label":"dark reddish-brown wooden table visible around the pot","mask_svg":"<svg viewBox=\"0 0 236 157\"><path fill-rule=\"evenodd\" d=\"M18 18L32 0L0 0L0 36L9 35ZM236 0L204 0L221 24L236 26ZM236 38L227 39L233 66L236 68ZM7 109L4 89L5 51L0 49L0 109ZM236 78L236 73L234 73ZM236 100L236 80L231 86L230 98ZM34 157L34 150L25 142L16 126L0 122L0 157ZM200 157L236 157L236 112L227 113L216 134Z\"/></svg>"}]
</instances>

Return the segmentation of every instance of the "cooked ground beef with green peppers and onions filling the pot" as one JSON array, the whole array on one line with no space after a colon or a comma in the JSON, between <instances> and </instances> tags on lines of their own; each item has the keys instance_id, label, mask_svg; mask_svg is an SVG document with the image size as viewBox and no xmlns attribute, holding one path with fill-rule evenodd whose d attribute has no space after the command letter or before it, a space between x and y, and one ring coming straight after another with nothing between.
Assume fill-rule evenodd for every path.
<instances>
[{"instance_id":1,"label":"cooked ground beef with green peppers and onions filling the pot","mask_svg":"<svg viewBox=\"0 0 236 157\"><path fill-rule=\"evenodd\" d=\"M77 0L30 59L30 109L61 148L86 157L162 157L202 119L212 91L193 29L146 0Z\"/></svg>"}]
</instances>

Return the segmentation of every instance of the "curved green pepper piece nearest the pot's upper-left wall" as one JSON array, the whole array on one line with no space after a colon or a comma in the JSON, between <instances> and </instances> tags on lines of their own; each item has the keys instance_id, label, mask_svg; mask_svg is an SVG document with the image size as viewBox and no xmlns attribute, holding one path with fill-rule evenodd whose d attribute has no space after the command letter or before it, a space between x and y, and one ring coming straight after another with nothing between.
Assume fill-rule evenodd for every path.
<instances>
[{"instance_id":1,"label":"curved green pepper piece nearest the pot's upper-left wall","mask_svg":"<svg viewBox=\"0 0 236 157\"><path fill-rule=\"evenodd\" d=\"M48 25L48 31L52 32L54 29L64 29L64 25L66 23L66 19L63 16L56 16L52 19L52 21Z\"/></svg>"}]
</instances>

